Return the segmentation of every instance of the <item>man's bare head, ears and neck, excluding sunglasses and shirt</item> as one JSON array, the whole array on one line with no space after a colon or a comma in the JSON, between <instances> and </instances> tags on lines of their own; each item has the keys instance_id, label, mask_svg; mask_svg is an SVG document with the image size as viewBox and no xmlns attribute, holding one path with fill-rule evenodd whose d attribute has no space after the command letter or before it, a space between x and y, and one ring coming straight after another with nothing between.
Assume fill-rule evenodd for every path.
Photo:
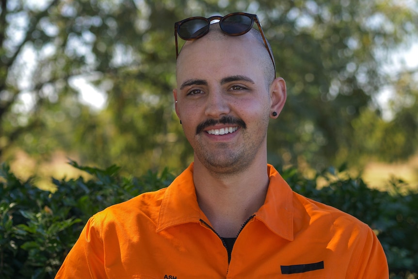
<instances>
[{"instance_id":1,"label":"man's bare head, ears and neck, excluding sunglasses and shirt","mask_svg":"<svg viewBox=\"0 0 418 279\"><path fill-rule=\"evenodd\" d=\"M197 201L225 237L237 236L264 203L267 128L286 100L285 82L274 79L273 62L253 32L230 36L212 25L206 36L186 42L177 59L174 99L194 150Z\"/></svg>"}]
</instances>

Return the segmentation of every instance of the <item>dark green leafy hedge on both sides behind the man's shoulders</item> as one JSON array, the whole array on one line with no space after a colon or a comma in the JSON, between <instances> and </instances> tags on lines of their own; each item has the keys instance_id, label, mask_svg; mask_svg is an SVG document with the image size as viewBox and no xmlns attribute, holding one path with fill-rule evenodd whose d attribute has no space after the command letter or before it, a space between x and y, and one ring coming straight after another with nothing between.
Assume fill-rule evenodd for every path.
<instances>
[{"instance_id":1,"label":"dark green leafy hedge on both sides behind the man's shoulders","mask_svg":"<svg viewBox=\"0 0 418 279\"><path fill-rule=\"evenodd\" d=\"M0 168L0 278L54 278L88 218L104 208L143 192L166 187L173 181L161 174L122 177L117 166L107 169L74 167L93 179L52 179L51 193L18 180L7 164ZM417 278L418 194L404 191L402 181L390 181L387 192L370 189L343 168L327 169L306 179L296 169L280 170L293 190L337 207L370 225L381 241L393 279ZM318 179L328 186L317 187Z\"/></svg>"}]
</instances>

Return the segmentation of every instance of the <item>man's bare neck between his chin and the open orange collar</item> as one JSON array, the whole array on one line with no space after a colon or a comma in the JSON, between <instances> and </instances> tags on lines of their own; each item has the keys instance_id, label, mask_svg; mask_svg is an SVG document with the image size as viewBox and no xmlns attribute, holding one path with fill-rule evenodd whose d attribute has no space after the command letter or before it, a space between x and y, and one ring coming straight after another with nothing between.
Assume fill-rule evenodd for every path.
<instances>
[{"instance_id":1,"label":"man's bare neck between his chin and the open orange collar","mask_svg":"<svg viewBox=\"0 0 418 279\"><path fill-rule=\"evenodd\" d=\"M267 164L254 164L230 176L215 176L198 160L193 169L197 202L211 226L222 237L236 237L245 220L264 204Z\"/></svg>"}]
</instances>

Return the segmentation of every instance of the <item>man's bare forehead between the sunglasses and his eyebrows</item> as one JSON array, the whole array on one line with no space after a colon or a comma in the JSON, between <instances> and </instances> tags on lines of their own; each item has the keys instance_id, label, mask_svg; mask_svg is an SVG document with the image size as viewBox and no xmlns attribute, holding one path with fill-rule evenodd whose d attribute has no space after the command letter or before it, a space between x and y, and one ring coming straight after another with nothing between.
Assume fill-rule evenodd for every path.
<instances>
[{"instance_id":1,"label":"man's bare forehead between the sunglasses and his eyebrows","mask_svg":"<svg viewBox=\"0 0 418 279\"><path fill-rule=\"evenodd\" d=\"M262 72L258 69L260 51L259 43L249 33L241 36L209 33L200 39L187 41L177 59L177 82L198 75Z\"/></svg>"}]
</instances>

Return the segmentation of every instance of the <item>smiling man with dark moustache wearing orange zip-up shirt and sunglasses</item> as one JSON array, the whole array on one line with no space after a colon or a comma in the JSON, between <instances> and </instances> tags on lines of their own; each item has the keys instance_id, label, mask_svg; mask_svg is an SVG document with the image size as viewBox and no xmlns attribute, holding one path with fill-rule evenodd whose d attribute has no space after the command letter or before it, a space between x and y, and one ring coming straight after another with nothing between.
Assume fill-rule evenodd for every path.
<instances>
[{"instance_id":1,"label":"smiling man with dark moustache wearing orange zip-up shirt and sunglasses","mask_svg":"<svg viewBox=\"0 0 418 279\"><path fill-rule=\"evenodd\" d=\"M194 163L95 214L56 278L388 278L366 224L292 192L267 164L286 84L257 16L186 19L177 33L188 41L173 95Z\"/></svg>"}]
</instances>

